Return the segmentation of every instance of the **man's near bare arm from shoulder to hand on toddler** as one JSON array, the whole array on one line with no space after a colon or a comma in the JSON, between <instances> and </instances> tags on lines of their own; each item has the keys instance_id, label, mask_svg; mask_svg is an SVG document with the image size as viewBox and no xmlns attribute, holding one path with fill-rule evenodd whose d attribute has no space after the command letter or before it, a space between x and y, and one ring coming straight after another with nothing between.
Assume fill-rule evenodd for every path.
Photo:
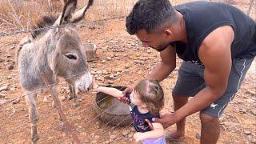
<instances>
[{"instance_id":1,"label":"man's near bare arm from shoulder to hand on toddler","mask_svg":"<svg viewBox=\"0 0 256 144\"><path fill-rule=\"evenodd\" d=\"M234 40L234 31L230 26L222 26L210 33L199 49L199 58L205 66L204 77L207 84L173 114L158 119L165 126L170 126L190 114L210 106L225 93L232 66L230 46ZM160 120L160 121L159 121Z\"/></svg>"}]
</instances>

